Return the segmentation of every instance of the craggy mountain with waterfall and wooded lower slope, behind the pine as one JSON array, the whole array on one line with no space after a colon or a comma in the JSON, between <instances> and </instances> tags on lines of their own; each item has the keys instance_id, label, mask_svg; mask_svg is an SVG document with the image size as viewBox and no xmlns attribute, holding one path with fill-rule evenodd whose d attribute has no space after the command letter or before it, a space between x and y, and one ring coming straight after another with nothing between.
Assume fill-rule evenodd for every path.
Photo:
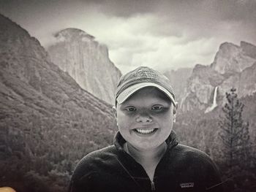
<instances>
[{"instance_id":1,"label":"craggy mountain with waterfall and wooded lower slope, behind the pine","mask_svg":"<svg viewBox=\"0 0 256 192\"><path fill-rule=\"evenodd\" d=\"M225 191L255 191L255 55L256 47L252 44L241 42L241 45L237 46L224 43L220 45L211 65L197 64L187 79L184 96L178 105L176 123L173 126L179 142L206 152L219 166L222 180L232 181L224 184ZM238 99L244 105L241 114L231 114L233 117L241 115L243 123L226 119L226 127L221 127L220 122L228 116L223 110L224 104L227 104L225 93L230 93L231 88L236 88ZM242 125L245 127L243 137L246 138L246 144L242 147L239 144L233 147L232 141L236 141L239 138L238 134L241 133L237 127ZM228 127L232 127L231 131ZM223 133L232 134L230 137L227 136L230 142L225 142L220 137ZM241 170L236 166L236 169L231 171L225 158L227 149L236 154L240 153L243 147L248 150L248 153L243 153L246 157L243 160L245 166ZM237 158L236 161L241 161L241 158ZM246 185L245 180L248 183Z\"/></svg>"}]
</instances>

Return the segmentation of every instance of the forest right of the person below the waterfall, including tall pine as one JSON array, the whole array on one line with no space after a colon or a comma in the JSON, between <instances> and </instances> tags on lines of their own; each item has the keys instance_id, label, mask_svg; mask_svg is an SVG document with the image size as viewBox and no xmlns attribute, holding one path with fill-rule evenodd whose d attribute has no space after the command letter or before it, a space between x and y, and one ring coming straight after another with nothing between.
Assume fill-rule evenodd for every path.
<instances>
[{"instance_id":1,"label":"forest right of the person below the waterfall, including tall pine","mask_svg":"<svg viewBox=\"0 0 256 192\"><path fill-rule=\"evenodd\" d=\"M223 107L209 114L193 111L178 116L175 130L180 142L211 156L225 191L256 189L255 99L255 94L238 99L231 88Z\"/></svg>"}]
</instances>

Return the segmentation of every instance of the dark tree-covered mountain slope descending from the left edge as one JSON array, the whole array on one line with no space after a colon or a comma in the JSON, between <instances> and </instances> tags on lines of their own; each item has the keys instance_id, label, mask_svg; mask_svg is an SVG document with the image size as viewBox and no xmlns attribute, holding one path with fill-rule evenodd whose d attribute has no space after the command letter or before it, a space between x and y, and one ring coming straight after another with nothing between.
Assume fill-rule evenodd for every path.
<instances>
[{"instance_id":1,"label":"dark tree-covered mountain slope descending from the left edge","mask_svg":"<svg viewBox=\"0 0 256 192\"><path fill-rule=\"evenodd\" d=\"M78 160L112 143L111 105L50 62L37 39L0 15L0 186L66 191Z\"/></svg>"}]
</instances>

